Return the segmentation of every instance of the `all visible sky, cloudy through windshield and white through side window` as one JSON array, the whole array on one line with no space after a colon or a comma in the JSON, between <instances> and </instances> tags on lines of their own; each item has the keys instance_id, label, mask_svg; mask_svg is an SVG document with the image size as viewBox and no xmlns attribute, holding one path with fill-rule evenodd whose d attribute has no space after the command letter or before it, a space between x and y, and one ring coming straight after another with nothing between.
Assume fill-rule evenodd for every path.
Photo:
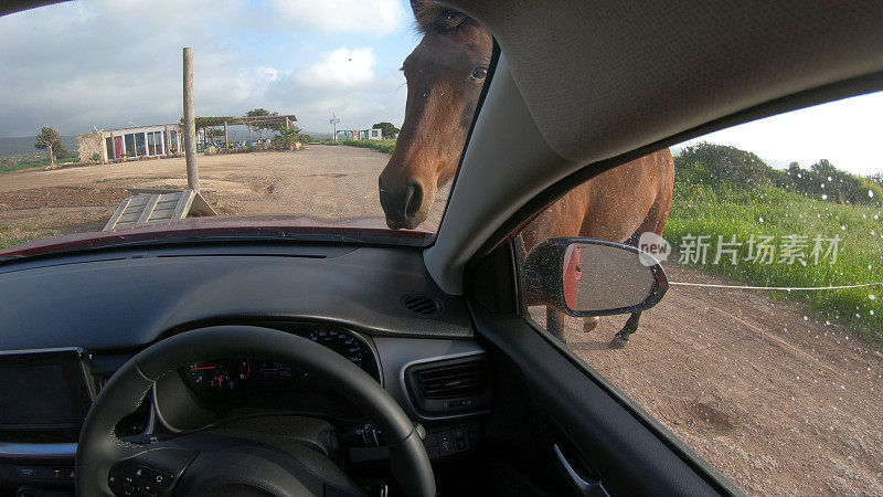
<instances>
[{"instance_id":1,"label":"all visible sky, cloudy through windshield and white through side window","mask_svg":"<svg viewBox=\"0 0 883 497\"><path fill-rule=\"evenodd\" d=\"M330 133L389 120L406 98L398 67L419 42L404 0L83 0L0 18L0 137L174 123L181 49L194 53L199 116L263 107ZM883 172L883 93L717 131L696 140L770 166L828 159ZM690 144L688 142L688 145Z\"/></svg>"}]
</instances>

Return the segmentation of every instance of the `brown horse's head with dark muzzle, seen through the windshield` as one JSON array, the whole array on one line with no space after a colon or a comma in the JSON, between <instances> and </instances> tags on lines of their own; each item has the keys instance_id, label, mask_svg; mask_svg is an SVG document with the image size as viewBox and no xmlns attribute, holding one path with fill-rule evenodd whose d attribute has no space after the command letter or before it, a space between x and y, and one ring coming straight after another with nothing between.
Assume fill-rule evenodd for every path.
<instances>
[{"instance_id":1,"label":"brown horse's head with dark muzzle, seen through the windshield","mask_svg":"<svg viewBox=\"0 0 883 497\"><path fill-rule=\"evenodd\" d=\"M379 178L392 229L417 228L438 187L454 178L488 74L493 42L477 21L432 0L412 0L423 40L405 59L405 121Z\"/></svg>"}]
</instances>

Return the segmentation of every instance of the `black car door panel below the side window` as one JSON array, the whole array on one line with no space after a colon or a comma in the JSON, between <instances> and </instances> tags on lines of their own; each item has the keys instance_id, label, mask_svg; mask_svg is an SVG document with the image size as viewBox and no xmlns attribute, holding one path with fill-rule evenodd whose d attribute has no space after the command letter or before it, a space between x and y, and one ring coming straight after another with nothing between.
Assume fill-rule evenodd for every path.
<instances>
[{"instance_id":1,"label":"black car door panel below the side window","mask_svg":"<svg viewBox=\"0 0 883 497\"><path fill-rule=\"evenodd\" d=\"M721 484L723 479L712 476L713 469L696 458L682 457L679 452L684 447L673 446L636 417L522 317L494 314L478 303L472 303L471 309L477 332L492 351L494 376L506 378L498 382L502 383L498 388L501 405L496 410L501 415L490 420L488 432L520 432L532 438L523 444L528 451L500 451L504 457L522 459L512 461L514 467L529 465L524 459L543 458L547 463L542 473L557 466L556 479L566 482L567 469L554 448L557 445L585 483L597 484L594 490L604 488L613 495L738 493ZM531 414L511 413L518 409L512 399L500 398L512 395L526 404ZM499 434L490 437L504 438ZM540 479L541 486L550 485L542 482L543 476L529 477Z\"/></svg>"}]
</instances>

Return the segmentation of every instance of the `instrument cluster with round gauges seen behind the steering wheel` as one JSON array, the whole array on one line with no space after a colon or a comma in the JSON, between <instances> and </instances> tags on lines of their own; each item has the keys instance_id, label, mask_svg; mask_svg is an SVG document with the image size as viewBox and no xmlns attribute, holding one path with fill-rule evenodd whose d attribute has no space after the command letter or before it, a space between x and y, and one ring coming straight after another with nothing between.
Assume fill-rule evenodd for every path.
<instances>
[{"instance_id":1,"label":"instrument cluster with round gauges seen behind the steering wheel","mask_svg":"<svg viewBox=\"0 0 883 497\"><path fill-rule=\"evenodd\" d=\"M380 382L374 351L361 335L330 326L294 332L328 347ZM214 399L279 388L309 388L317 381L310 378L309 371L294 364L246 356L194 362L182 368L180 373L190 388Z\"/></svg>"}]
</instances>

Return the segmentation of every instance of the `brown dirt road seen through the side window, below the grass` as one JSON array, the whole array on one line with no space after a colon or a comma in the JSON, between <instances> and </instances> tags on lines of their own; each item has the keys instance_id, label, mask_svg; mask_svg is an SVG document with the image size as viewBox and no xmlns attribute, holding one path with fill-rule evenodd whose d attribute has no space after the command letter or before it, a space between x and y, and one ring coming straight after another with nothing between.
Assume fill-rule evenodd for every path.
<instances>
[{"instance_id":1,"label":"brown dirt road seen through the side window, below the grass","mask_svg":"<svg viewBox=\"0 0 883 497\"><path fill-rule=\"evenodd\" d=\"M736 284L666 265L671 282ZM540 318L542 319L542 317ZM624 318L566 340L751 495L883 495L883 353L791 303L672 286L624 350Z\"/></svg>"}]
</instances>

